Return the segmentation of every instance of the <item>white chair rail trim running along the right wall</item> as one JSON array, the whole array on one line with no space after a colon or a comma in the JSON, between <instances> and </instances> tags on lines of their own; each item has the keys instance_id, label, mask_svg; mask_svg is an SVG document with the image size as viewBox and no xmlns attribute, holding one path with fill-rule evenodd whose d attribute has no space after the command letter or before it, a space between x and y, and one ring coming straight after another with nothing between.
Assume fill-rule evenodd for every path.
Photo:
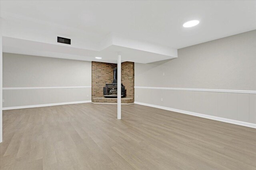
<instances>
[{"instance_id":1,"label":"white chair rail trim running along the right wall","mask_svg":"<svg viewBox=\"0 0 256 170\"><path fill-rule=\"evenodd\" d=\"M201 89L201 88L169 88L169 87L140 87L140 86L134 86L134 88L256 94L256 91L254 91L254 90L218 90L218 89Z\"/></svg>"}]
</instances>

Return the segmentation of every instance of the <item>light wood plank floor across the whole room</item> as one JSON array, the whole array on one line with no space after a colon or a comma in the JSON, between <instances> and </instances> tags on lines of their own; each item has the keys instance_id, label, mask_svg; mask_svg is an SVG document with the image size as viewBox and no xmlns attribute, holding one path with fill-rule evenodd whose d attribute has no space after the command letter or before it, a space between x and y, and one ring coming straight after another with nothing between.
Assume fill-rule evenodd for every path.
<instances>
[{"instance_id":1,"label":"light wood plank floor across the whole room","mask_svg":"<svg viewBox=\"0 0 256 170\"><path fill-rule=\"evenodd\" d=\"M3 111L1 170L255 170L256 129L136 104Z\"/></svg>"}]
</instances>

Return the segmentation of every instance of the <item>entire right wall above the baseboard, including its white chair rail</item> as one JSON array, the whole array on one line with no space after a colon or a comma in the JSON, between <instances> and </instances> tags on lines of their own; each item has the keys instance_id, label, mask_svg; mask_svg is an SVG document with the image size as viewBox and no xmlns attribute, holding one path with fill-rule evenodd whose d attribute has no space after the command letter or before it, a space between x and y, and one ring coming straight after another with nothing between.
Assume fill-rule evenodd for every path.
<instances>
[{"instance_id":1,"label":"entire right wall above the baseboard, including its white chair rail","mask_svg":"<svg viewBox=\"0 0 256 170\"><path fill-rule=\"evenodd\" d=\"M256 123L256 30L134 69L135 102Z\"/></svg>"}]
</instances>

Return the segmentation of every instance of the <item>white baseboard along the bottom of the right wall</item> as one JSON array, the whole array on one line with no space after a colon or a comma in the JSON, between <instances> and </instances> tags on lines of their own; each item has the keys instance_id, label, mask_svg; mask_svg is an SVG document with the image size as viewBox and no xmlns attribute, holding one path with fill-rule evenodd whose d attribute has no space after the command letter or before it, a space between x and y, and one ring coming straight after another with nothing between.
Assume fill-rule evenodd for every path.
<instances>
[{"instance_id":1,"label":"white baseboard along the bottom of the right wall","mask_svg":"<svg viewBox=\"0 0 256 170\"><path fill-rule=\"evenodd\" d=\"M201 113L195 113L195 112L191 112L191 111L174 109L174 108L170 108L170 107L158 106L158 105L153 105L153 104L146 104L146 103L140 103L140 102L134 102L134 104L140 104L140 105L144 105L144 106L156 107L156 108L159 108L159 109L175 111L175 112L178 112L178 113L184 113L184 114L187 114L187 115L193 115L193 116L197 116L197 117L204 117L206 119L223 121L223 122L226 122L226 123L232 123L232 124L246 126L246 127L252 127L252 128L256 129L256 124L254 124L254 123L248 123L248 122L244 122L244 121L237 121L237 120L232 120L232 119L226 119L226 118L216 117L216 116L211 116L211 115L204 115L204 114L201 114Z\"/></svg>"}]
</instances>

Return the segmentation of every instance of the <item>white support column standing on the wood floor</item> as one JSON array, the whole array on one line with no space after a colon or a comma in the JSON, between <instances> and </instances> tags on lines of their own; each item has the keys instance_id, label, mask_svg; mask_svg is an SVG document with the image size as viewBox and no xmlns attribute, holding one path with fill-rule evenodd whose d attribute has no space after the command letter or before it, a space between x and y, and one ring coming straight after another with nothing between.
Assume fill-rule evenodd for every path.
<instances>
[{"instance_id":1,"label":"white support column standing on the wood floor","mask_svg":"<svg viewBox=\"0 0 256 170\"><path fill-rule=\"evenodd\" d=\"M117 119L121 119L121 54L117 58Z\"/></svg>"}]
</instances>

